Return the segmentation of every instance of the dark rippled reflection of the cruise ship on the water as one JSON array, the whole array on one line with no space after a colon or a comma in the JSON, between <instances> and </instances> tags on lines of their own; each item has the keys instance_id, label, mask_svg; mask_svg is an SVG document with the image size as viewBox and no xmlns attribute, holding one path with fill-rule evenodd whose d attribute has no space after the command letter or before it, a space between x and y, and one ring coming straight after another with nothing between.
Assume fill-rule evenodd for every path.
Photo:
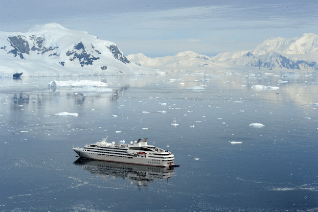
<instances>
[{"instance_id":1,"label":"dark rippled reflection of the cruise ship on the water","mask_svg":"<svg viewBox=\"0 0 318 212\"><path fill-rule=\"evenodd\" d=\"M94 161L79 158L74 164L82 166L85 170L106 179L106 177L119 177L135 183L138 188L147 186L155 180L169 180L174 169L151 167L144 165L117 164L104 161Z\"/></svg>"}]
</instances>

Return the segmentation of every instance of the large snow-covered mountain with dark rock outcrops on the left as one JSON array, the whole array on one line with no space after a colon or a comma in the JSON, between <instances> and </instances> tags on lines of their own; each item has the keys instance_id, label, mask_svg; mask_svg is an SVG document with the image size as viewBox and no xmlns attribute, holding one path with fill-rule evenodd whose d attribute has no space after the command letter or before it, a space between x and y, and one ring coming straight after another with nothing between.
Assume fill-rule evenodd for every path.
<instances>
[{"instance_id":1,"label":"large snow-covered mountain with dark rock outcrops on the left","mask_svg":"<svg viewBox=\"0 0 318 212\"><path fill-rule=\"evenodd\" d=\"M110 41L60 24L35 25L26 33L0 32L0 76L157 74L131 63Z\"/></svg>"}]
</instances>

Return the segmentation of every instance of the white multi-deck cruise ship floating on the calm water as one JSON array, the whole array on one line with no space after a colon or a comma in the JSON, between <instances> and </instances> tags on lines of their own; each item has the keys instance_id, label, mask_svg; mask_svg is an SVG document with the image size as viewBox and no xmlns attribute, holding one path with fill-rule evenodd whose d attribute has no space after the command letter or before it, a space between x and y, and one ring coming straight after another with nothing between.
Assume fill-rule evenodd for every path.
<instances>
[{"instance_id":1,"label":"white multi-deck cruise ship floating on the calm water","mask_svg":"<svg viewBox=\"0 0 318 212\"><path fill-rule=\"evenodd\" d=\"M147 138L130 141L128 143L108 143L106 139L84 148L73 147L73 150L81 157L100 161L110 161L132 165L149 165L158 167L176 167L174 155L153 145L148 145Z\"/></svg>"}]
</instances>

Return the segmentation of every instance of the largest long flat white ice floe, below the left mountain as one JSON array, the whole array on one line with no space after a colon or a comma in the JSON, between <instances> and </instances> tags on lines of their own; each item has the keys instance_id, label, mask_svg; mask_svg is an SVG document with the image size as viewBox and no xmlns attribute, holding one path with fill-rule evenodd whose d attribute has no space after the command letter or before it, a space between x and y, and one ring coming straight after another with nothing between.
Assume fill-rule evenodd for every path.
<instances>
[{"instance_id":1,"label":"largest long flat white ice floe, below the left mountain","mask_svg":"<svg viewBox=\"0 0 318 212\"><path fill-rule=\"evenodd\" d=\"M83 86L93 86L93 87L107 87L108 83L93 81L93 80L68 80L68 81L51 81L48 87L83 87Z\"/></svg>"}]
</instances>

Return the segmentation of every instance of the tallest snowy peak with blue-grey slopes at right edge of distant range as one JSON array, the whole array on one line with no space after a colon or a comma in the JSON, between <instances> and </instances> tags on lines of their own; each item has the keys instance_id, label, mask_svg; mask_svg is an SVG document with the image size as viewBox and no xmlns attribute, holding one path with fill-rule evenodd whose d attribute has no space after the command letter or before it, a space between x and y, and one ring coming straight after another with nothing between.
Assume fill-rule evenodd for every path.
<instances>
[{"instance_id":1,"label":"tallest snowy peak with blue-grey slopes at right edge of distant range","mask_svg":"<svg viewBox=\"0 0 318 212\"><path fill-rule=\"evenodd\" d=\"M305 33L297 38L272 38L250 51L220 53L215 61L275 70L318 70L318 35Z\"/></svg>"}]
</instances>

